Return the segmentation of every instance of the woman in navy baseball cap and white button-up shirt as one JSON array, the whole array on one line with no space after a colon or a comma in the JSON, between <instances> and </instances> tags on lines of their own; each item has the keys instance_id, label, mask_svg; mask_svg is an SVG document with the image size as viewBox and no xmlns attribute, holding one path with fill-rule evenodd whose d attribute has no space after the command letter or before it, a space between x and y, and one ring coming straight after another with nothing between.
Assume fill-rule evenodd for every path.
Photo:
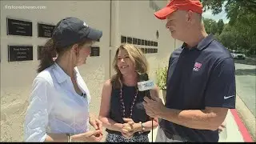
<instances>
[{"instance_id":1,"label":"woman in navy baseball cap and white button-up shirt","mask_svg":"<svg viewBox=\"0 0 256 144\"><path fill-rule=\"evenodd\" d=\"M101 37L102 31L78 18L64 18L55 26L32 85L26 142L100 142L102 122L89 113L90 91L77 66L86 62L90 46Z\"/></svg>"}]
</instances>

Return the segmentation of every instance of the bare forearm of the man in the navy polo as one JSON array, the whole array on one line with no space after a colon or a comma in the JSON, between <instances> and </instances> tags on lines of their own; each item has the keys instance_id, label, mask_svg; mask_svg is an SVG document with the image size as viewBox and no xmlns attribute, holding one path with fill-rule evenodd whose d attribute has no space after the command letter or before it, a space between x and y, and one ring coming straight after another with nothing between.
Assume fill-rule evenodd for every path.
<instances>
[{"instance_id":1,"label":"bare forearm of the man in the navy polo","mask_svg":"<svg viewBox=\"0 0 256 144\"><path fill-rule=\"evenodd\" d=\"M174 110L164 108L159 117L178 125L200 130L218 130L228 108L206 107L206 110Z\"/></svg>"}]
</instances>

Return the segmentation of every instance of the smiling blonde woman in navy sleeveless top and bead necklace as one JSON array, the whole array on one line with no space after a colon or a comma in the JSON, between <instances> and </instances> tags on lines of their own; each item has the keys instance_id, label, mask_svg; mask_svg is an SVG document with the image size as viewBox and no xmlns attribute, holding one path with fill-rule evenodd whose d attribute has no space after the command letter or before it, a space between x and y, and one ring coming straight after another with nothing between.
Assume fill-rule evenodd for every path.
<instances>
[{"instance_id":1,"label":"smiling blonde woman in navy sleeveless top and bead necklace","mask_svg":"<svg viewBox=\"0 0 256 144\"><path fill-rule=\"evenodd\" d=\"M119 46L114 57L117 72L102 88L99 118L108 132L106 142L149 142L152 121L142 105L145 92L138 91L138 72L146 73L148 65L142 51L134 45ZM155 86L151 94L158 95ZM158 119L154 118L154 128Z\"/></svg>"}]
</instances>

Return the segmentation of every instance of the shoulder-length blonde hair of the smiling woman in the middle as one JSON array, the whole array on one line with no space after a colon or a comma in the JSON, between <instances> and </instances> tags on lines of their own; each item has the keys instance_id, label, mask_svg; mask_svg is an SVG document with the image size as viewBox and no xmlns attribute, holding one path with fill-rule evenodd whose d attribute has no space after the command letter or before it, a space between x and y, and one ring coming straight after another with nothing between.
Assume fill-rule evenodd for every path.
<instances>
[{"instance_id":1,"label":"shoulder-length blonde hair of the smiling woman in the middle","mask_svg":"<svg viewBox=\"0 0 256 144\"><path fill-rule=\"evenodd\" d=\"M146 61L145 55L142 53L142 50L138 49L136 46L132 44L122 44L118 47L118 50L115 53L113 67L116 72L110 81L112 86L115 89L119 89L122 87L122 74L118 68L118 52L119 50L126 50L129 54L130 60L134 63L135 71L138 73L147 73L148 71L148 62Z\"/></svg>"}]
</instances>

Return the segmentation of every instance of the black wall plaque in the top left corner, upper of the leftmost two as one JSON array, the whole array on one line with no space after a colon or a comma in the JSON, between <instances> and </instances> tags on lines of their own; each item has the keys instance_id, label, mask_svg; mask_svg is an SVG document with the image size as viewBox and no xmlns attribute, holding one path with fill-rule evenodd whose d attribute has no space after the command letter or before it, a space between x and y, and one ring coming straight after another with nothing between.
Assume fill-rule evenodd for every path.
<instances>
[{"instance_id":1,"label":"black wall plaque in the top left corner, upper of the leftmost two","mask_svg":"<svg viewBox=\"0 0 256 144\"><path fill-rule=\"evenodd\" d=\"M7 18L7 35L32 36L32 22Z\"/></svg>"}]
</instances>

